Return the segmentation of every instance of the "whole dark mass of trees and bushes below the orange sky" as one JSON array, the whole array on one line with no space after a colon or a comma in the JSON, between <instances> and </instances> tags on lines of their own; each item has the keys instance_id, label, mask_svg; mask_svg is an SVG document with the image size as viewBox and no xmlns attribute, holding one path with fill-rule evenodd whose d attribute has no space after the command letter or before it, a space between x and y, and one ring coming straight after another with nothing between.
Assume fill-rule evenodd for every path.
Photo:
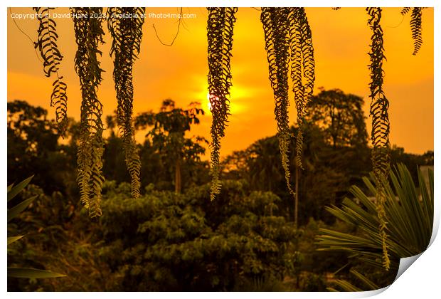
<instances>
[{"instance_id":1,"label":"whole dark mass of trees and bushes below the orange sky","mask_svg":"<svg viewBox=\"0 0 441 299\"><path fill-rule=\"evenodd\" d=\"M141 196L132 199L123 137L110 115L102 217L90 221L75 182L78 123L69 120L61 140L46 110L8 103L8 184L35 174L16 202L37 195L9 224L9 235L26 237L9 246L8 264L67 275L9 278L9 290L326 290L336 279L354 281L354 269L388 285L394 271L378 271L349 253L316 251L319 229L361 234L326 211L352 198L353 184L369 192L362 177L371 171L371 148L361 107L362 98L341 90L322 90L309 103L307 109L320 112L302 123L304 169L292 173L298 213L277 136L225 157L223 188L211 201L209 166L201 160L205 140L186 137L203 111L196 104L174 107L171 100L158 113L134 117L134 127L147 135L137 144ZM294 149L295 140L290 142ZM296 169L296 153L290 154L289 168ZM393 147L391 159L405 164L418 182L417 167L432 165L433 152Z\"/></svg>"}]
</instances>

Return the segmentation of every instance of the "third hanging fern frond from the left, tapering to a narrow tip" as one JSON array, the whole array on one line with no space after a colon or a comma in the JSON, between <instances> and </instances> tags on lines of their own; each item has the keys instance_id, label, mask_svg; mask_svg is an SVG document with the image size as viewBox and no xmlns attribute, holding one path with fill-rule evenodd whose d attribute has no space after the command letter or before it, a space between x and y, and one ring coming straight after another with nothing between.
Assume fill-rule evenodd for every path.
<instances>
[{"instance_id":1,"label":"third hanging fern frond from the left, tapering to a narrow tip","mask_svg":"<svg viewBox=\"0 0 441 299\"><path fill-rule=\"evenodd\" d=\"M110 55L114 56L113 79L117 92L117 123L122 133L125 160L132 180L132 196L138 198L141 182L141 161L134 140L133 64L141 50L144 8L112 7L108 11L107 27L112 36ZM133 16L133 17L119 17Z\"/></svg>"}]
</instances>

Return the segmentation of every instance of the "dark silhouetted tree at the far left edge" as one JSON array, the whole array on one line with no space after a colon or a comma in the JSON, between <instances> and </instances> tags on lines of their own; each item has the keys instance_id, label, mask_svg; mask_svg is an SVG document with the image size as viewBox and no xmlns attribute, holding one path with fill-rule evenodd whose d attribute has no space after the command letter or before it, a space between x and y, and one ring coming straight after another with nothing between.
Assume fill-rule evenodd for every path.
<instances>
[{"instance_id":1,"label":"dark silhouetted tree at the far left edge","mask_svg":"<svg viewBox=\"0 0 441 299\"><path fill-rule=\"evenodd\" d=\"M58 145L55 122L48 111L23 100L7 104L8 184L35 174L33 184L46 192L59 191L73 172L68 152Z\"/></svg>"}]
</instances>

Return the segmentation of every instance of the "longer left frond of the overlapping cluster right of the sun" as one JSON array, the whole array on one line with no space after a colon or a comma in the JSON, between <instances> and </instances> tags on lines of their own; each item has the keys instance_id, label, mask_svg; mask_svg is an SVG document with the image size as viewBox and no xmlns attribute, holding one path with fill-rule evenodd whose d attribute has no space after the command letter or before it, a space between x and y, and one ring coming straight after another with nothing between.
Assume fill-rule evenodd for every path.
<instances>
[{"instance_id":1,"label":"longer left frond of the overlapping cluster right of the sun","mask_svg":"<svg viewBox=\"0 0 441 299\"><path fill-rule=\"evenodd\" d=\"M285 170L285 180L289 193L294 191L289 183L289 98L288 98L288 70L289 70L289 9L262 7L260 21L265 33L265 50L270 71L270 83L275 99L275 118L277 120L277 137L282 157L282 167Z\"/></svg>"}]
</instances>

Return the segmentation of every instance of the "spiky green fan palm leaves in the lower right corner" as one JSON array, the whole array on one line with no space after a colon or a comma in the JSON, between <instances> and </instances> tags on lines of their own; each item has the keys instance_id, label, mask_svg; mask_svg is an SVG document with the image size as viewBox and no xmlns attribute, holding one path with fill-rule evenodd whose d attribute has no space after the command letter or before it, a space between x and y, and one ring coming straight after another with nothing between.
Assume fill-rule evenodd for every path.
<instances>
[{"instance_id":1,"label":"spiky green fan palm leaves in the lower right corner","mask_svg":"<svg viewBox=\"0 0 441 299\"><path fill-rule=\"evenodd\" d=\"M364 179L373 196L377 196L378 192L386 195L385 216L389 224L386 241L391 256L390 270L395 273L400 258L415 256L429 245L433 226L433 172L429 172L428 184L423 174L418 172L417 188L408 169L398 164L395 172L390 172L390 181L390 184L386 179L379 182L373 174L371 179ZM342 208L331 206L328 211L337 219L356 226L358 234L322 229L322 234L317 237L319 246L321 250L350 253L351 258L382 269L383 236L377 229L381 220L376 214L376 204L358 187L354 186L351 192L355 199L345 199ZM363 280L359 273L357 277ZM345 283L339 285L348 289Z\"/></svg>"}]
</instances>

